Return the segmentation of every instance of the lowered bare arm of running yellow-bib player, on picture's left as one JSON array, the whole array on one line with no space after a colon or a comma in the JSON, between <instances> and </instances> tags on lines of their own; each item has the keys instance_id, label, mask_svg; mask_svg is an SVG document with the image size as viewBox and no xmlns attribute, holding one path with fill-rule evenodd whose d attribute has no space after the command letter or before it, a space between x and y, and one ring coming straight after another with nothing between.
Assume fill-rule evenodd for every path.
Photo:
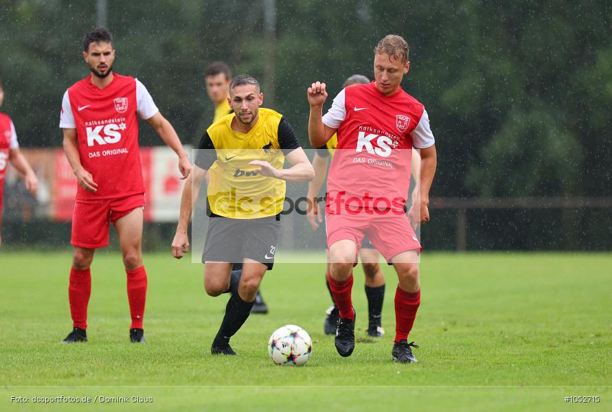
<instances>
[{"instance_id":1,"label":"lowered bare arm of running yellow-bib player, on picture's left","mask_svg":"<svg viewBox=\"0 0 612 412\"><path fill-rule=\"evenodd\" d=\"M193 173L185 179L183 186L183 194L181 195L181 209L179 212L179 224L177 225L177 233L174 234L172 240L172 256L177 259L183 258L183 255L189 251L189 238L187 229L191 219L192 210L198 200L200 187L205 181L207 171L197 166Z\"/></svg>"}]
</instances>

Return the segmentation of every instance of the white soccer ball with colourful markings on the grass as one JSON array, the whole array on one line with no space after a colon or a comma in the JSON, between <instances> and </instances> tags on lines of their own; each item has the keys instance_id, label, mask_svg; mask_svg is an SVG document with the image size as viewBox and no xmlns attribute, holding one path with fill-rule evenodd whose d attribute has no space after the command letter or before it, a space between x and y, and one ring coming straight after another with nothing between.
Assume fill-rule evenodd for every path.
<instances>
[{"instance_id":1,"label":"white soccer ball with colourful markings on the grass","mask_svg":"<svg viewBox=\"0 0 612 412\"><path fill-rule=\"evenodd\" d=\"M275 330L268 341L268 354L276 365L302 366L313 353L313 341L306 330L284 325Z\"/></svg>"}]
</instances>

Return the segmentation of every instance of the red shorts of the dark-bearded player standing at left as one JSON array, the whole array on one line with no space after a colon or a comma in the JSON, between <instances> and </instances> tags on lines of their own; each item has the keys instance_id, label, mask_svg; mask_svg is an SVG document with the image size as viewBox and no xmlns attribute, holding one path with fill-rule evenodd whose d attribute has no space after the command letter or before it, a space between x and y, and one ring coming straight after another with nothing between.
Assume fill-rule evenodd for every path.
<instances>
[{"instance_id":1,"label":"red shorts of the dark-bearded player standing at left","mask_svg":"<svg viewBox=\"0 0 612 412\"><path fill-rule=\"evenodd\" d=\"M137 207L144 208L144 194L124 198L80 201L74 203L72 215L73 246L98 249L109 245L109 223L113 225Z\"/></svg>"}]
</instances>

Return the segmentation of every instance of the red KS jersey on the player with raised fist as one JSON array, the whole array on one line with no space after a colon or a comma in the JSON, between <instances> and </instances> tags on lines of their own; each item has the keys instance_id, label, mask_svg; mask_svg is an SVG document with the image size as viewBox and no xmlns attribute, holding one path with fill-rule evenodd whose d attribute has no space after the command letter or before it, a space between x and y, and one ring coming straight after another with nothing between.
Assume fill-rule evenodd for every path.
<instances>
[{"instance_id":1,"label":"red KS jersey on the player with raised fist","mask_svg":"<svg viewBox=\"0 0 612 412\"><path fill-rule=\"evenodd\" d=\"M355 84L337 95L323 122L338 135L328 176L328 212L340 213L341 204L403 211L412 147L434 144L424 106L401 88L385 96L374 82Z\"/></svg>"}]
</instances>

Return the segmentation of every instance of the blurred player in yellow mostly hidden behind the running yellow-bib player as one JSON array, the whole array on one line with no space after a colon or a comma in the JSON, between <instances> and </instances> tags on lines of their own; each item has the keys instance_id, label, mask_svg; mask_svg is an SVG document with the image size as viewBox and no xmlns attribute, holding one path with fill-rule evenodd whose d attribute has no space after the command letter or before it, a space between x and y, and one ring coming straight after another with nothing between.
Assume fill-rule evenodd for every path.
<instances>
[{"instance_id":1,"label":"blurred player in yellow mostly hidden behind the running yellow-bib player","mask_svg":"<svg viewBox=\"0 0 612 412\"><path fill-rule=\"evenodd\" d=\"M212 122L216 122L223 116L229 115L233 110L229 106L229 83L231 83L231 70L225 62L212 62L204 72L206 81L206 93L208 98L214 104L214 117ZM212 165L206 174L206 181L210 183L210 174L215 172L216 164ZM236 275L240 277L242 274L242 263L234 263L231 266L232 271L236 271ZM268 306L265 304L260 291L257 291L255 303L251 308L251 313L268 313Z\"/></svg>"}]
</instances>

